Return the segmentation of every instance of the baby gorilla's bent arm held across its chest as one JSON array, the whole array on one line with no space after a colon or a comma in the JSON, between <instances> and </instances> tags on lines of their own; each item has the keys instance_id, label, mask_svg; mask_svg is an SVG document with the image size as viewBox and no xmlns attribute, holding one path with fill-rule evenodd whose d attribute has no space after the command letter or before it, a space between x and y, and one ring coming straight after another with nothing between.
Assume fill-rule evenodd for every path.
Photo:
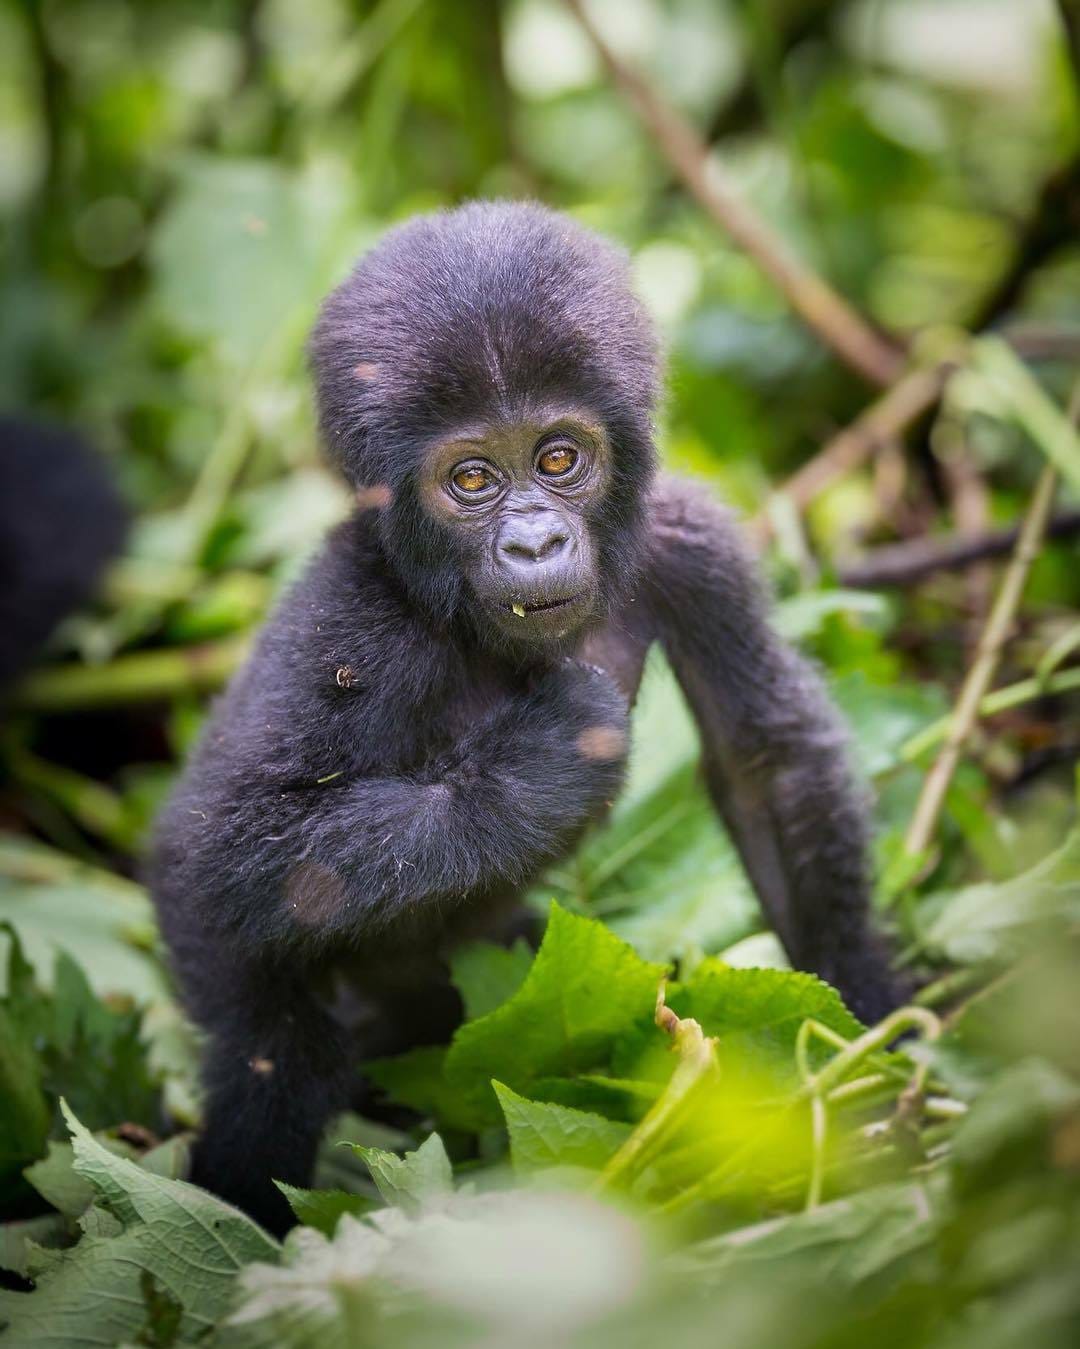
<instances>
[{"instance_id":1,"label":"baby gorilla's bent arm held across its chest","mask_svg":"<svg viewBox=\"0 0 1080 1349\"><path fill-rule=\"evenodd\" d=\"M243 683L264 685L258 666ZM286 735L318 724L311 697L276 714ZM378 716L375 703L351 726L357 746L378 743ZM268 774L262 720L258 735L253 718L227 715L225 742L210 731L163 819L156 889L182 896L208 929L259 947L349 940L429 902L520 882L618 791L622 753L591 753L587 733L603 727L613 735L601 747L624 745L626 716L607 677L562 664L415 773L376 765L320 784L313 770L298 785Z\"/></svg>"}]
</instances>

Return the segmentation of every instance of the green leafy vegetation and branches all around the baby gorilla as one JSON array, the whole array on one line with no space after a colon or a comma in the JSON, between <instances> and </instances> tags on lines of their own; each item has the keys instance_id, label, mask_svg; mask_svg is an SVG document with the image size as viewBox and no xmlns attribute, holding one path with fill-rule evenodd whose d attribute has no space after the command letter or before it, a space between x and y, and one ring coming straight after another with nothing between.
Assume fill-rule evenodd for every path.
<instances>
[{"instance_id":1,"label":"green leafy vegetation and branches all around the baby gorilla","mask_svg":"<svg viewBox=\"0 0 1080 1349\"><path fill-rule=\"evenodd\" d=\"M1077 1342L1079 69L1075 0L0 3L0 399L132 510L0 731L7 1342ZM782 970L657 662L539 955L462 954L282 1249L179 1179L139 857L348 509L320 298L475 196L628 250L665 463L827 668L921 992L867 1031Z\"/></svg>"}]
</instances>

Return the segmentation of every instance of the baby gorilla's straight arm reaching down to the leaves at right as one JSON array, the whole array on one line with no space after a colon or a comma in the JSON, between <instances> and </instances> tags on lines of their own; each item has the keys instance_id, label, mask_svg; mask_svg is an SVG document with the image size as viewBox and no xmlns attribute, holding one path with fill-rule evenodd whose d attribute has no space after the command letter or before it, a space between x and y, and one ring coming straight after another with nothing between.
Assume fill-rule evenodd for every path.
<instances>
[{"instance_id":1,"label":"baby gorilla's straight arm reaching down to the leaves at right","mask_svg":"<svg viewBox=\"0 0 1080 1349\"><path fill-rule=\"evenodd\" d=\"M843 728L771 630L736 526L700 490L658 487L647 591L709 792L789 959L878 1020L898 996L870 927L867 815Z\"/></svg>"}]
</instances>

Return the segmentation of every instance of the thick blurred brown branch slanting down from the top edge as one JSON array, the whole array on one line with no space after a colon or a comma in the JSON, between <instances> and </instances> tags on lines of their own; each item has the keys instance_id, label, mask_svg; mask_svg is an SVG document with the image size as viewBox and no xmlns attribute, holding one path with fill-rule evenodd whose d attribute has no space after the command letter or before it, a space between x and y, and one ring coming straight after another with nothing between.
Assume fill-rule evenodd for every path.
<instances>
[{"instance_id":1,"label":"thick blurred brown branch slanting down from the top edge","mask_svg":"<svg viewBox=\"0 0 1080 1349\"><path fill-rule=\"evenodd\" d=\"M686 189L775 282L804 322L852 370L871 383L891 383L903 366L903 352L882 337L847 299L796 258L779 235L738 196L724 179L720 166L711 163L708 147L698 132L612 51L582 0L566 0L566 4Z\"/></svg>"}]
</instances>

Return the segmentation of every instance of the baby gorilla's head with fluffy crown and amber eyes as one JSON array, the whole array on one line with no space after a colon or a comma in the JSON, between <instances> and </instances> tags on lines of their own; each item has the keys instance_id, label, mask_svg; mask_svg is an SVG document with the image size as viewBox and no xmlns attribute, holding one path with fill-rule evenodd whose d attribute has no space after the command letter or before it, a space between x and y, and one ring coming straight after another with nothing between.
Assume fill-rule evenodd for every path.
<instances>
[{"instance_id":1,"label":"baby gorilla's head with fluffy crown and amber eyes","mask_svg":"<svg viewBox=\"0 0 1080 1349\"><path fill-rule=\"evenodd\" d=\"M326 301L311 359L328 447L433 618L551 648L627 594L657 351L608 243L535 205L413 220Z\"/></svg>"}]
</instances>

